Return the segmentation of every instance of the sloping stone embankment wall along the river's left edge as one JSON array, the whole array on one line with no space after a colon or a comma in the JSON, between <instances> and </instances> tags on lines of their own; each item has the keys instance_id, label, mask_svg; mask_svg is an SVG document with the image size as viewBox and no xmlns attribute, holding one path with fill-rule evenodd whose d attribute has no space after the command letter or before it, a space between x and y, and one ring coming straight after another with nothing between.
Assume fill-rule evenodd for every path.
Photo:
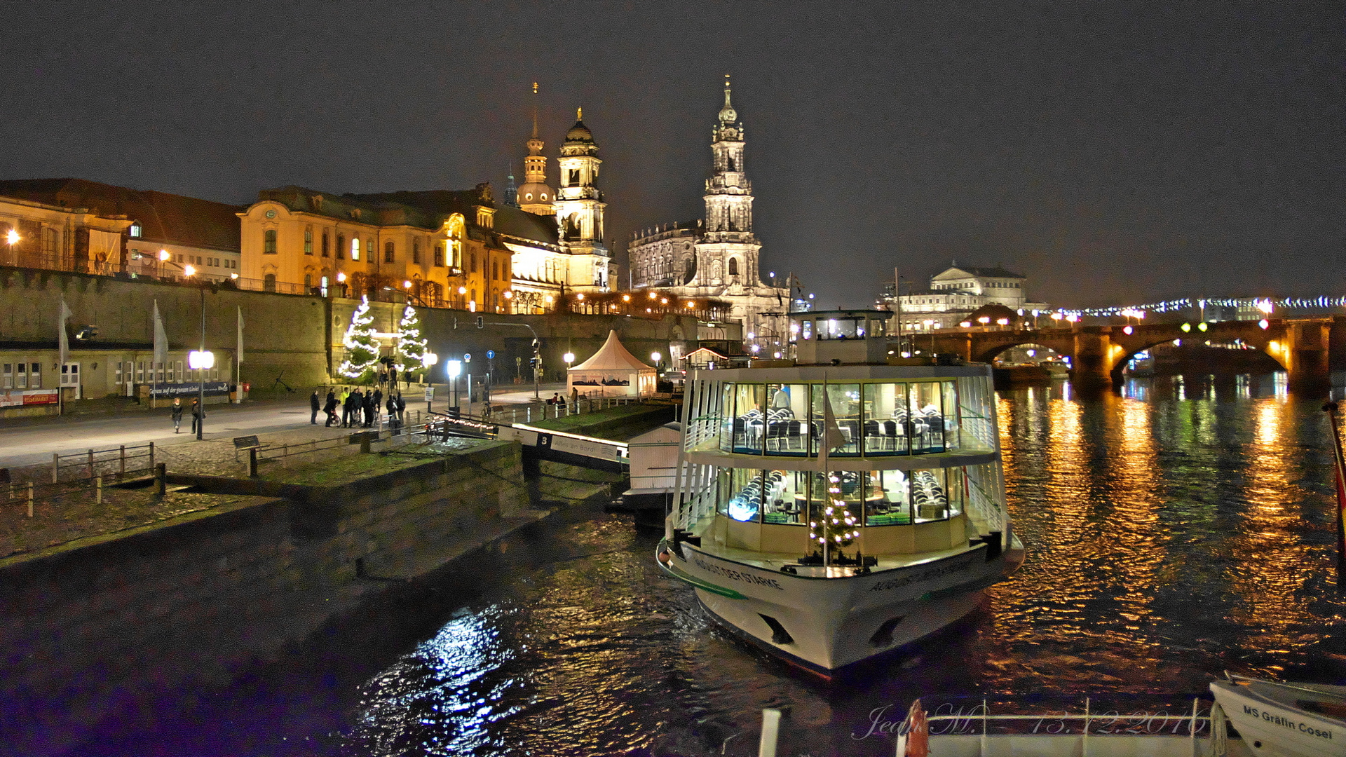
<instances>
[{"instance_id":1,"label":"sloping stone embankment wall along the river's left edge","mask_svg":"<svg viewBox=\"0 0 1346 757\"><path fill-rule=\"evenodd\" d=\"M0 754L58 754L232 680L332 616L532 523L520 447L335 486L171 477L211 511L0 560Z\"/></svg>"}]
</instances>

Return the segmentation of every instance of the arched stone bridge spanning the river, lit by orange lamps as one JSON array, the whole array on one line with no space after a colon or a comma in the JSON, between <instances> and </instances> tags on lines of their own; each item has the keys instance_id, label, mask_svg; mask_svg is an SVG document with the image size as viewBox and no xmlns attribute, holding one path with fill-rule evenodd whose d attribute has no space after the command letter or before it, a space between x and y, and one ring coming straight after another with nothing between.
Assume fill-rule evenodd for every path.
<instances>
[{"instance_id":1,"label":"arched stone bridge spanning the river, lit by orange lamps","mask_svg":"<svg viewBox=\"0 0 1346 757\"><path fill-rule=\"evenodd\" d=\"M1269 354L1302 387L1329 384L1333 370L1346 370L1346 317L1272 319L1263 329L1259 321L1219 321L1206 330L1190 323L1144 323L1131 326L1074 326L1066 329L976 331L948 330L931 335L915 334L925 348L933 338L937 353L961 356L975 362L991 362L1004 350L1020 345L1042 345L1070 358L1070 377L1078 384L1121 384L1121 370L1139 352L1174 339L1240 342Z\"/></svg>"}]
</instances>

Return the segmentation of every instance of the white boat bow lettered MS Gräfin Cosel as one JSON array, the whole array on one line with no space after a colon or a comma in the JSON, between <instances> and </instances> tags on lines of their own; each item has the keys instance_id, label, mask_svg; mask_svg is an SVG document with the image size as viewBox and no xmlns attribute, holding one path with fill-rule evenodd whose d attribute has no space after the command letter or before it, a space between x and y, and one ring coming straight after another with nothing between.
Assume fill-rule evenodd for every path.
<instances>
[{"instance_id":1,"label":"white boat bow lettered MS Gr\u00e4fin Cosel","mask_svg":"<svg viewBox=\"0 0 1346 757\"><path fill-rule=\"evenodd\" d=\"M1228 679L1210 691L1252 754L1346 757L1346 686Z\"/></svg>"}]
</instances>

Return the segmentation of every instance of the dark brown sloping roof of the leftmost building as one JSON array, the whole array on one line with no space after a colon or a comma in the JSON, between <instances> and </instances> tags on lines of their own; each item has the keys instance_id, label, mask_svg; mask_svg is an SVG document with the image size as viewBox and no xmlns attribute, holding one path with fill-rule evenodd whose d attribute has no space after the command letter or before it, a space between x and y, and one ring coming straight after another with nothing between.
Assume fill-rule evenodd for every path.
<instances>
[{"instance_id":1,"label":"dark brown sloping roof of the leftmost building","mask_svg":"<svg viewBox=\"0 0 1346 757\"><path fill-rule=\"evenodd\" d=\"M73 178L0 180L0 197L125 216L140 222L145 241L233 252L241 246L238 205Z\"/></svg>"}]
</instances>

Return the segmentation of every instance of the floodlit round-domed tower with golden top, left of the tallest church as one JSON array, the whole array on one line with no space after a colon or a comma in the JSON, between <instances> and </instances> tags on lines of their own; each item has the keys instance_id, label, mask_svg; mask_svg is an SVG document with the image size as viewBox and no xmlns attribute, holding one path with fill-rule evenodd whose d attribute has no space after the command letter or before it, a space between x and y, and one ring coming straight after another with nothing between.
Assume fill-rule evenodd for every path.
<instances>
[{"instance_id":1,"label":"floodlit round-domed tower with golden top, left of the tallest church","mask_svg":"<svg viewBox=\"0 0 1346 757\"><path fill-rule=\"evenodd\" d=\"M565 132L560 187L553 206L561 245L571 255L571 284L579 290L607 290L611 259L603 244L603 193L598 189L598 158L594 133L584 125L580 109L575 125Z\"/></svg>"}]
</instances>

